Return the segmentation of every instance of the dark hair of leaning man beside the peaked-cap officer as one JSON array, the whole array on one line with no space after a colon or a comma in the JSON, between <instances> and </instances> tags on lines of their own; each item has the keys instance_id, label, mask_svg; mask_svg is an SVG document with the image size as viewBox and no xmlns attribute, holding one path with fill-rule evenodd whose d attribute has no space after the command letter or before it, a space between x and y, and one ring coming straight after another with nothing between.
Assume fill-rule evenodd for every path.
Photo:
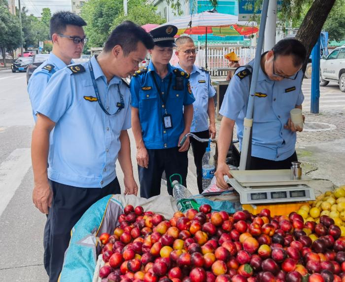
<instances>
[{"instance_id":1,"label":"dark hair of leaning man beside the peaked-cap officer","mask_svg":"<svg viewBox=\"0 0 345 282\"><path fill-rule=\"evenodd\" d=\"M124 21L111 31L103 50L109 52L114 46L120 45L124 56L127 56L137 50L138 42L142 42L146 49L154 47L151 34L131 21Z\"/></svg>"}]
</instances>

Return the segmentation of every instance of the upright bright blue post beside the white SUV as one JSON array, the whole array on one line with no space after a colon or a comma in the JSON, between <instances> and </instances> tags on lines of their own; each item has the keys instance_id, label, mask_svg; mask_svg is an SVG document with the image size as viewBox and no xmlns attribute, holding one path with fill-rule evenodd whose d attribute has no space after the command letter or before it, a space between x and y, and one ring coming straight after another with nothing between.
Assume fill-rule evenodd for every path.
<instances>
[{"instance_id":1,"label":"upright bright blue post beside the white SUV","mask_svg":"<svg viewBox=\"0 0 345 282\"><path fill-rule=\"evenodd\" d=\"M319 113L321 35L311 51L311 113Z\"/></svg>"}]
</instances>

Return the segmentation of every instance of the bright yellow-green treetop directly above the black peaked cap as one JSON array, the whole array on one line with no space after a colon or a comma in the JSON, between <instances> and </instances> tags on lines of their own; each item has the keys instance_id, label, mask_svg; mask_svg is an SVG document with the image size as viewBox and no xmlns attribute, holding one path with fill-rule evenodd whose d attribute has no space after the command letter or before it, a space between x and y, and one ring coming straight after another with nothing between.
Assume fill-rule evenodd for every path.
<instances>
[{"instance_id":1,"label":"bright yellow-green treetop directly above the black peaked cap","mask_svg":"<svg viewBox=\"0 0 345 282\"><path fill-rule=\"evenodd\" d=\"M156 14L156 10L157 8L148 4L146 0L131 0L128 2L128 15L125 16L123 9L121 9L121 15L114 19L109 31L126 20L132 21L139 26L145 24L163 24L165 19Z\"/></svg>"}]
</instances>

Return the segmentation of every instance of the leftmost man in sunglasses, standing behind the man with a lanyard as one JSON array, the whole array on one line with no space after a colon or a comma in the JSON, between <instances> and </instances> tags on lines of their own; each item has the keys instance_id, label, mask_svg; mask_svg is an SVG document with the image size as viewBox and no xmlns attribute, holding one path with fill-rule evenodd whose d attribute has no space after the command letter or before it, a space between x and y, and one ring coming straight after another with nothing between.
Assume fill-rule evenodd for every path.
<instances>
[{"instance_id":1,"label":"leftmost man in sunglasses, standing behind the man with a lanyard","mask_svg":"<svg viewBox=\"0 0 345 282\"><path fill-rule=\"evenodd\" d=\"M36 111L51 76L69 65L72 58L80 57L86 42L83 26L86 26L85 21L69 11L57 12L51 17L52 52L48 59L35 69L28 84L35 122L37 121Z\"/></svg>"}]
</instances>

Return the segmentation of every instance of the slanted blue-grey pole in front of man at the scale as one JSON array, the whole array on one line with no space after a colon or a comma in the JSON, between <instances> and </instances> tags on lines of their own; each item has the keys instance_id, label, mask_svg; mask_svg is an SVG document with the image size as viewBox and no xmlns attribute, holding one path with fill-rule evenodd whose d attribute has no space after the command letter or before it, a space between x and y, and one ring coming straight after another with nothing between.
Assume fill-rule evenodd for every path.
<instances>
[{"instance_id":1,"label":"slanted blue-grey pole in front of man at the scale","mask_svg":"<svg viewBox=\"0 0 345 282\"><path fill-rule=\"evenodd\" d=\"M251 79L251 84L250 84L248 107L247 107L246 116L243 121L244 130L243 130L242 150L241 150L241 159L240 159L241 170L246 169L248 149L249 149L249 146L251 146L250 134L251 134L252 124L253 124L255 88L256 88L256 84L258 82L258 76L259 76L259 67L260 67L260 61L261 61L262 45L264 43L264 33L265 33L265 27L266 27L268 3L269 3L269 0L264 0L262 4L259 37L258 37L258 44L256 46L256 51L255 51L255 60L254 60L254 67L253 67L252 79Z\"/></svg>"}]
</instances>

